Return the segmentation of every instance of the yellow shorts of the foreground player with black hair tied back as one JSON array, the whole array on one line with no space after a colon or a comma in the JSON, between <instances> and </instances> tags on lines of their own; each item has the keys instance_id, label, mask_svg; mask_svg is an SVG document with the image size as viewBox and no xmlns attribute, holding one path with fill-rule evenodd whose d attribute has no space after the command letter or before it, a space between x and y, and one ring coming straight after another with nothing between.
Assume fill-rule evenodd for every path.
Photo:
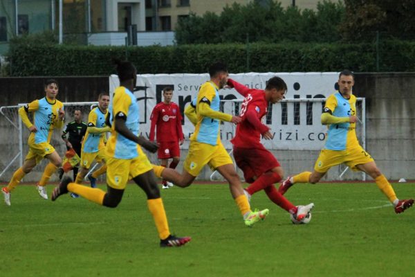
<instances>
[{"instance_id":1,"label":"yellow shorts of the foreground player with black hair tied back","mask_svg":"<svg viewBox=\"0 0 415 277\"><path fill-rule=\"evenodd\" d=\"M124 160L108 157L107 184L111 188L124 190L129 179L142 175L142 173L149 170L153 170L153 166L141 148L138 149L138 157L134 159Z\"/></svg>"}]
</instances>

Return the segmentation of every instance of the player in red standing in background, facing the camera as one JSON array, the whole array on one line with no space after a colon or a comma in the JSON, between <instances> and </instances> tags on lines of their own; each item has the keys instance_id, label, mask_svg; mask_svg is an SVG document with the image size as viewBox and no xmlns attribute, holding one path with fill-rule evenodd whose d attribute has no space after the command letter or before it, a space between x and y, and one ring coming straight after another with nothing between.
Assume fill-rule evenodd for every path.
<instances>
[{"instance_id":1,"label":"player in red standing in background, facing the camera","mask_svg":"<svg viewBox=\"0 0 415 277\"><path fill-rule=\"evenodd\" d=\"M151 112L151 128L150 141L154 141L154 128L156 128L156 141L159 145L158 159L160 159L160 166L167 168L169 159L173 159L169 168L176 168L180 161L180 149L178 145L182 145L185 141L183 130L181 126L182 116L180 109L175 102L172 102L173 89L172 87L165 87L163 89L163 102L160 102L154 107ZM163 179L163 188L173 186L172 183Z\"/></svg>"}]
</instances>

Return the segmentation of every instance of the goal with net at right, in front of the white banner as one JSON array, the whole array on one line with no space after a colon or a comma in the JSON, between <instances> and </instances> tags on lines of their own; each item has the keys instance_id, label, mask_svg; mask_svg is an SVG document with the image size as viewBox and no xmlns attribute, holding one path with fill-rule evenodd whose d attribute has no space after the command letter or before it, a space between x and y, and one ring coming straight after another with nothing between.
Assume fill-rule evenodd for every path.
<instances>
[{"instance_id":1,"label":"goal with net at right, in front of the white banner","mask_svg":"<svg viewBox=\"0 0 415 277\"><path fill-rule=\"evenodd\" d=\"M227 114L239 115L242 101L241 99L222 100L221 110ZM284 99L268 106L268 112L263 120L270 127L273 139L261 139L261 143L273 152L284 168L286 176L304 170L313 170L315 160L320 150L324 148L326 139L327 127L320 122L325 101L325 98ZM365 98L357 99L356 113L359 118L356 123L356 134L360 145L365 148ZM234 136L236 126L225 123L221 129L223 144L231 152L232 144L229 140ZM222 180L222 178L218 172L214 172L211 180ZM340 165L329 170L324 180L365 180L365 175L361 172L352 172L347 166Z\"/></svg>"}]
</instances>

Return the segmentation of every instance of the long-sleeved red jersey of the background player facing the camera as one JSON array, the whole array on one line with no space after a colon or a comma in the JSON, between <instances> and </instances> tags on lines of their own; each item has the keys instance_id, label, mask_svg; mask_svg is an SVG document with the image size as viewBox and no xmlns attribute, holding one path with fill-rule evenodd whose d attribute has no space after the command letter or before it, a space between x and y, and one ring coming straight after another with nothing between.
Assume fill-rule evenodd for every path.
<instances>
[{"instance_id":1,"label":"long-sleeved red jersey of the background player facing the camera","mask_svg":"<svg viewBox=\"0 0 415 277\"><path fill-rule=\"evenodd\" d=\"M158 143L179 141L184 139L181 127L182 116L178 105L174 102L160 102L154 107L150 116L150 141L154 141L154 128L157 125L156 139Z\"/></svg>"}]
</instances>

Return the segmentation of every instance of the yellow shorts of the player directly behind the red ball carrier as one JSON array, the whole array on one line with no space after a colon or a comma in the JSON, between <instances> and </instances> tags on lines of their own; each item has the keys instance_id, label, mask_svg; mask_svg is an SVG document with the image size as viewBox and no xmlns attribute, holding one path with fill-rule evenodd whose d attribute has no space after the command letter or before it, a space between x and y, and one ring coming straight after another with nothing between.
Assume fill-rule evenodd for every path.
<instances>
[{"instance_id":1,"label":"yellow shorts of the player directly behind the red ball carrier","mask_svg":"<svg viewBox=\"0 0 415 277\"><path fill-rule=\"evenodd\" d=\"M225 164L232 164L232 159L226 152L222 143L216 146L191 141L189 153L183 163L183 168L196 177L201 172L203 166L208 165L211 169L219 168Z\"/></svg>"}]
</instances>

